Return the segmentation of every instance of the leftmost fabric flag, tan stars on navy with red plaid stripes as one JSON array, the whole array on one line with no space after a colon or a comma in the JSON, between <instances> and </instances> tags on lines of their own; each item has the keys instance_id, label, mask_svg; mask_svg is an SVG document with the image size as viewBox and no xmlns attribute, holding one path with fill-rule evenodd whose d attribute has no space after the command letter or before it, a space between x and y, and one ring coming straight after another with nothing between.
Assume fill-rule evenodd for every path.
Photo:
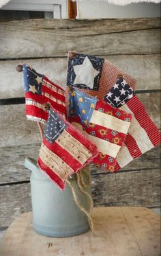
<instances>
[{"instance_id":1,"label":"leftmost fabric flag, tan stars on navy with red plaid stripes","mask_svg":"<svg viewBox=\"0 0 161 256\"><path fill-rule=\"evenodd\" d=\"M46 122L50 106L65 117L65 91L60 86L27 65L23 65L23 77L27 119Z\"/></svg>"}]
</instances>

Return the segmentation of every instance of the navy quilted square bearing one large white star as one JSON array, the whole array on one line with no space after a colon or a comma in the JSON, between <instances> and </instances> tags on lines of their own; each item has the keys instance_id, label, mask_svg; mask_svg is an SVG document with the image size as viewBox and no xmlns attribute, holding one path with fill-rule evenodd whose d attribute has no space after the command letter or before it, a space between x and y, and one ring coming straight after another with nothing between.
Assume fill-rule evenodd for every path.
<instances>
[{"instance_id":1,"label":"navy quilted square bearing one large white star","mask_svg":"<svg viewBox=\"0 0 161 256\"><path fill-rule=\"evenodd\" d=\"M70 51L67 85L98 91L103 63L103 58Z\"/></svg>"}]
</instances>

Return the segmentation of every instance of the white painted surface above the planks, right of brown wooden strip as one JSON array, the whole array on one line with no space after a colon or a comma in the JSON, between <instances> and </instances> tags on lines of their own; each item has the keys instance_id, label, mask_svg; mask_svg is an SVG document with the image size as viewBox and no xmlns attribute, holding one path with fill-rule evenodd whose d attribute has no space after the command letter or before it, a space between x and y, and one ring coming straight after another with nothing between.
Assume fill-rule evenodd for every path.
<instances>
[{"instance_id":1,"label":"white painted surface above the planks, right of brown wooden strip","mask_svg":"<svg viewBox=\"0 0 161 256\"><path fill-rule=\"evenodd\" d=\"M160 3L131 3L120 6L107 1L77 0L77 14L77 19L159 17Z\"/></svg>"}]
</instances>

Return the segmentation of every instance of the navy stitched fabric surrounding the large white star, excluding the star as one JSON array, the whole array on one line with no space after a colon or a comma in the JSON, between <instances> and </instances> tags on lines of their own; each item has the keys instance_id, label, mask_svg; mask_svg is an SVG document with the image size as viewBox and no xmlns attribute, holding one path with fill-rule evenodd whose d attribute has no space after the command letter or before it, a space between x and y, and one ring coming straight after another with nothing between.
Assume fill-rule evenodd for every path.
<instances>
[{"instance_id":1,"label":"navy stitched fabric surrounding the large white star, excluding the star","mask_svg":"<svg viewBox=\"0 0 161 256\"><path fill-rule=\"evenodd\" d=\"M78 83L74 84L74 80L76 78L76 73L74 72L74 66L76 65L83 65L83 62L85 58L88 57L88 59L91 62L91 65L93 66L93 69L96 69L98 71L98 75L93 79L93 88L87 86L85 83ZM100 80L100 75L102 71L102 65L104 63L103 58L98 58L96 56L90 56L90 55L85 55L85 54L77 54L73 58L69 56L68 59L68 74L67 74L67 86L74 86L78 87L80 89L89 89L93 91L98 91L99 89L99 80Z\"/></svg>"}]
</instances>

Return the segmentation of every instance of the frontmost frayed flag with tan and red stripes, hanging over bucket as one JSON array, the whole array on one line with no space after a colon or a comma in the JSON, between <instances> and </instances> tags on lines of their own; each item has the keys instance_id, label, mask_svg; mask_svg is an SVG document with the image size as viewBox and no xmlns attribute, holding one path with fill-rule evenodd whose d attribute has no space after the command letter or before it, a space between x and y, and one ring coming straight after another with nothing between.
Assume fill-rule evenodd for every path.
<instances>
[{"instance_id":1,"label":"frontmost frayed flag with tan and red stripes, hanging over bucket","mask_svg":"<svg viewBox=\"0 0 161 256\"><path fill-rule=\"evenodd\" d=\"M64 189L68 176L97 155L97 147L51 108L38 159L40 170Z\"/></svg>"}]
</instances>

